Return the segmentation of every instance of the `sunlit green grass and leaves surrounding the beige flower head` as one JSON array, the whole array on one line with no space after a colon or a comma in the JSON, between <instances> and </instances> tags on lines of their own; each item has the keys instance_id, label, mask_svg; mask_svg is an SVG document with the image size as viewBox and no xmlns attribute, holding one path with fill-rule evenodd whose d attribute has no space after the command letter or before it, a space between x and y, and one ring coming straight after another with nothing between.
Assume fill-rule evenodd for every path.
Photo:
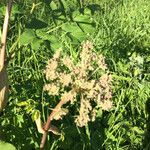
<instances>
[{"instance_id":1,"label":"sunlit green grass and leaves surrounding the beige flower head","mask_svg":"<svg viewBox=\"0 0 150 150\"><path fill-rule=\"evenodd\" d=\"M0 2L0 37L5 6ZM149 8L149 0L15 1L7 38L10 94L0 139L18 150L39 149L42 135L34 117L39 110L46 122L59 102L43 91L47 61L60 47L78 60L81 43L89 40L112 75L113 108L99 109L96 121L82 128L71 108L53 121L62 133L49 132L45 149L150 149Z\"/></svg>"}]
</instances>

